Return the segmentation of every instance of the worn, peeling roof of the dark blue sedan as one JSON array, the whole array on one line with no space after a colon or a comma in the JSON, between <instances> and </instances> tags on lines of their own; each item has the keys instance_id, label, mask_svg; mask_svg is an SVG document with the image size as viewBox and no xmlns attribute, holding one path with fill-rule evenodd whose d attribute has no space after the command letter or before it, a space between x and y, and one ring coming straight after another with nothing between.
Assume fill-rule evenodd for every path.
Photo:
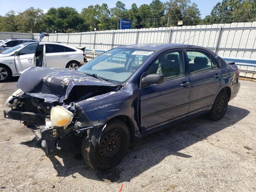
<instances>
[{"instance_id":1,"label":"worn, peeling roof of the dark blue sedan","mask_svg":"<svg viewBox=\"0 0 256 192\"><path fill-rule=\"evenodd\" d=\"M158 51L164 48L172 48L172 47L184 48L184 47L193 47L193 46L194 45L176 44L176 43L144 43L144 44L125 45L125 46L121 46L120 48L134 48L134 49Z\"/></svg>"}]
</instances>

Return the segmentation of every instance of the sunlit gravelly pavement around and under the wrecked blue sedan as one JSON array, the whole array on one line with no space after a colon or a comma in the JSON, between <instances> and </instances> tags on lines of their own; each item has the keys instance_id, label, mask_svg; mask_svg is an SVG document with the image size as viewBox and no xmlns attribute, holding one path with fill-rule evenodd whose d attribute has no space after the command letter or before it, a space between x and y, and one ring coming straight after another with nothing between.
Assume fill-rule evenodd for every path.
<instances>
[{"instance_id":1,"label":"sunlit gravelly pavement around and under the wrecked blue sedan","mask_svg":"<svg viewBox=\"0 0 256 192\"><path fill-rule=\"evenodd\" d=\"M256 191L256 82L240 81L226 116L205 116L134 142L116 168L89 168L79 151L46 156L34 134L0 116L0 191ZM0 83L0 111L16 81Z\"/></svg>"}]
</instances>

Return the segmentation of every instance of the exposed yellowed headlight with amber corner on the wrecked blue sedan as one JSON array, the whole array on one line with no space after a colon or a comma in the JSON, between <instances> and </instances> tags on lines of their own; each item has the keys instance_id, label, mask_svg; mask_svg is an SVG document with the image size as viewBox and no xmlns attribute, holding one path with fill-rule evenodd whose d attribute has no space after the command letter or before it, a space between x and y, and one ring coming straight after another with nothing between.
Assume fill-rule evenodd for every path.
<instances>
[{"instance_id":1,"label":"exposed yellowed headlight with amber corner on the wrecked blue sedan","mask_svg":"<svg viewBox=\"0 0 256 192\"><path fill-rule=\"evenodd\" d=\"M73 119L73 113L62 106L55 106L51 109L50 120L53 126L66 128Z\"/></svg>"}]
</instances>

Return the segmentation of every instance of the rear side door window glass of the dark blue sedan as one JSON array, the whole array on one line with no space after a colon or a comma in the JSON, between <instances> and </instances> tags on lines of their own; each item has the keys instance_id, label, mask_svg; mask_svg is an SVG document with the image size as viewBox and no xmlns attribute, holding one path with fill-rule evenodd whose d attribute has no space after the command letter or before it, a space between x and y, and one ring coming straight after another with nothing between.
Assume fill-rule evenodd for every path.
<instances>
[{"instance_id":1,"label":"rear side door window glass of the dark blue sedan","mask_svg":"<svg viewBox=\"0 0 256 192\"><path fill-rule=\"evenodd\" d=\"M211 60L210 54L204 51L187 50L187 55L190 66L190 74L205 70L212 70L213 68L217 67L216 61L213 59Z\"/></svg>"}]
</instances>

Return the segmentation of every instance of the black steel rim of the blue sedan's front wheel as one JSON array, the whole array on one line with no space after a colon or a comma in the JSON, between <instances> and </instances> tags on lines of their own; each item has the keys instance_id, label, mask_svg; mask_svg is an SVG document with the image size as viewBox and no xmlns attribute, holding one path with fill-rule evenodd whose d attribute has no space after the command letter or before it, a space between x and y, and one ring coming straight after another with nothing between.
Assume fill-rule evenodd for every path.
<instances>
[{"instance_id":1,"label":"black steel rim of the blue sedan's front wheel","mask_svg":"<svg viewBox=\"0 0 256 192\"><path fill-rule=\"evenodd\" d=\"M100 161L107 163L115 160L120 155L123 146L123 136L118 130L111 130L100 139L98 157Z\"/></svg>"}]
</instances>

